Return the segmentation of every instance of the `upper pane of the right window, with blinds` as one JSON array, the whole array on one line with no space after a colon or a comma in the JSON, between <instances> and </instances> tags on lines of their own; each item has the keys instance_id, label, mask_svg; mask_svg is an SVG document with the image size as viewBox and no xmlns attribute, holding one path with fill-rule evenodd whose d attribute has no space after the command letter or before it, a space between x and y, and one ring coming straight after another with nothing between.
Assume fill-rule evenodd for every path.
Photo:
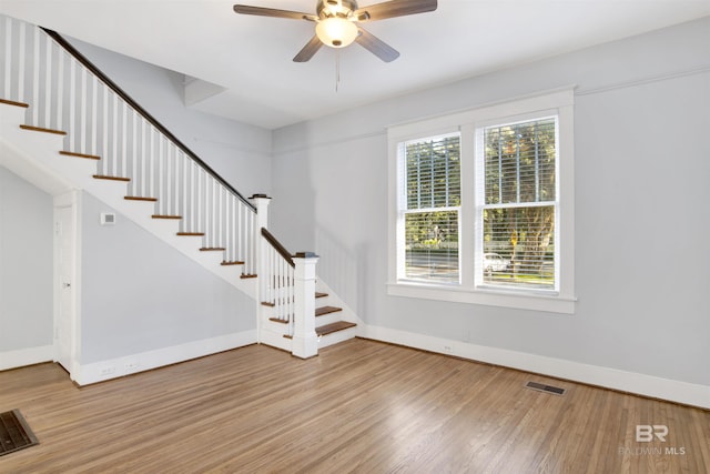
<instances>
[{"instance_id":1,"label":"upper pane of the right window, with blinds","mask_svg":"<svg viewBox=\"0 0 710 474\"><path fill-rule=\"evenodd\" d=\"M556 119L485 130L486 204L555 198Z\"/></svg>"}]
</instances>

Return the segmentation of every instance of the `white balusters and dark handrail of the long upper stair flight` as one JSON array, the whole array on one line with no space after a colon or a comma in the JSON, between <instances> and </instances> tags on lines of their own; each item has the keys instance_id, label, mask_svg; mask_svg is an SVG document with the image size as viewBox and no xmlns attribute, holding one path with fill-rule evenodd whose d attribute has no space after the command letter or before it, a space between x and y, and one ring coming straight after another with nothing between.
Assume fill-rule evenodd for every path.
<instances>
[{"instance_id":1,"label":"white balusters and dark handrail of the long upper stair flight","mask_svg":"<svg viewBox=\"0 0 710 474\"><path fill-rule=\"evenodd\" d=\"M131 198L156 200L155 216L256 274L255 208L190 149L48 30L0 16L0 94L28 103L26 123L67 132L64 150L100 157L97 177L130 179Z\"/></svg>"}]
</instances>

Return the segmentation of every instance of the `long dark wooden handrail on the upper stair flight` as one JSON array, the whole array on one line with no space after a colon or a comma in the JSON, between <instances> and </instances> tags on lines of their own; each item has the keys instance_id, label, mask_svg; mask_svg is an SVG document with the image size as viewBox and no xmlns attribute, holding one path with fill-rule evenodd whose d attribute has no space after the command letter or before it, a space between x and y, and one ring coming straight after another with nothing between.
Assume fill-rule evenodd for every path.
<instances>
[{"instance_id":1,"label":"long dark wooden handrail on the upper stair flight","mask_svg":"<svg viewBox=\"0 0 710 474\"><path fill-rule=\"evenodd\" d=\"M121 99L123 99L129 105L131 105L138 113L143 115L153 127L155 127L162 134L168 137L170 141L176 144L192 161L197 163L204 171L206 171L212 178L219 181L224 188L230 190L235 196L240 199L247 208L256 212L256 208L246 198L244 198L237 190L234 189L224 178L217 174L207 163L202 161L200 157L181 142L174 134L170 132L162 123L160 123L153 115L151 115L145 109L143 109L136 101L134 101L123 89L121 89L115 82L113 82L106 74L104 74L93 62L91 62L85 56L83 56L77 48L74 48L69 41L67 41L61 34L55 31L42 28L47 34L49 34L54 41L57 41L62 48L73 56L77 61L89 69L97 78L99 78L104 84L106 84L113 92L115 92Z\"/></svg>"}]
</instances>

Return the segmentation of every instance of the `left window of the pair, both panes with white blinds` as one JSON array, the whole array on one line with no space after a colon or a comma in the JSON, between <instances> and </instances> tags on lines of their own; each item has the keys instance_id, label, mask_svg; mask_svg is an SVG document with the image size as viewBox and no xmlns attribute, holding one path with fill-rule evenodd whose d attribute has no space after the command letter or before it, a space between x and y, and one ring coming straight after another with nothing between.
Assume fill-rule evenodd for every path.
<instances>
[{"instance_id":1,"label":"left window of the pair, both panes with white blinds","mask_svg":"<svg viewBox=\"0 0 710 474\"><path fill-rule=\"evenodd\" d=\"M399 221L404 226L400 278L458 283L460 138L458 134L398 145Z\"/></svg>"}]
</instances>

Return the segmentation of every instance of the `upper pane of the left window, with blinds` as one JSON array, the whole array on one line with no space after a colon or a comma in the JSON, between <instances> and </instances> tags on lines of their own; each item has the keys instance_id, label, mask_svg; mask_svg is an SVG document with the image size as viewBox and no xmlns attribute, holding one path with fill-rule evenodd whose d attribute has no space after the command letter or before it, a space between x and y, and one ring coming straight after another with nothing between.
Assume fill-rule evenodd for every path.
<instances>
[{"instance_id":1,"label":"upper pane of the left window, with blinds","mask_svg":"<svg viewBox=\"0 0 710 474\"><path fill-rule=\"evenodd\" d=\"M407 143L407 209L460 204L459 141L454 135Z\"/></svg>"}]
</instances>

